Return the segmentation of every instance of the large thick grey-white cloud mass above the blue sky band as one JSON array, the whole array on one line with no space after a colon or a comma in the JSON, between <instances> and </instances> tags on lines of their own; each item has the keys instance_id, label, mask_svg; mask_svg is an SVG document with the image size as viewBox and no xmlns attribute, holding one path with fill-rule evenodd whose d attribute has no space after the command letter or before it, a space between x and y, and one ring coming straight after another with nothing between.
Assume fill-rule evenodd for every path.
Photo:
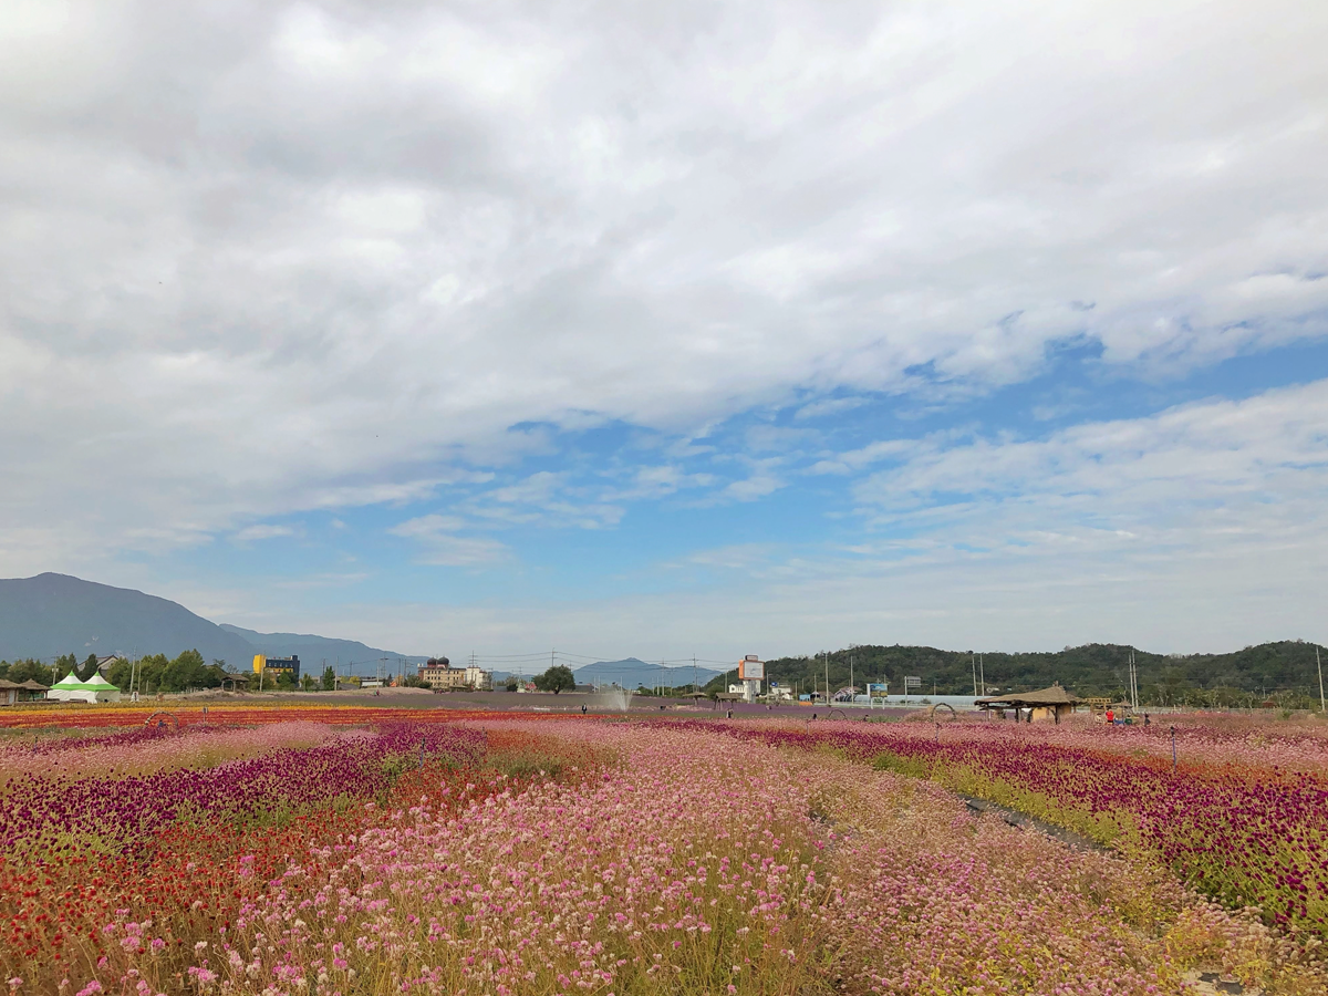
<instances>
[{"instance_id":1,"label":"large thick grey-white cloud mass above the blue sky band","mask_svg":"<svg viewBox=\"0 0 1328 996\"><path fill-rule=\"evenodd\" d=\"M1065 336L1325 332L1323 4L40 8L0 27L7 574Z\"/></svg>"}]
</instances>

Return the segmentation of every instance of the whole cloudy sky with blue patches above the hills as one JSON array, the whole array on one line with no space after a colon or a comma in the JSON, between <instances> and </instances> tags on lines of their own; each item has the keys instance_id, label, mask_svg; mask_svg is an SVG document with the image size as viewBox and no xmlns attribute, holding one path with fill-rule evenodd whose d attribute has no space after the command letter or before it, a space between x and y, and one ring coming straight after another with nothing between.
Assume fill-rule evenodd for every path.
<instances>
[{"instance_id":1,"label":"whole cloudy sky with blue patches above the hills","mask_svg":"<svg viewBox=\"0 0 1328 996\"><path fill-rule=\"evenodd\" d=\"M1328 641L1325 50L8 0L0 576L454 659Z\"/></svg>"}]
</instances>

